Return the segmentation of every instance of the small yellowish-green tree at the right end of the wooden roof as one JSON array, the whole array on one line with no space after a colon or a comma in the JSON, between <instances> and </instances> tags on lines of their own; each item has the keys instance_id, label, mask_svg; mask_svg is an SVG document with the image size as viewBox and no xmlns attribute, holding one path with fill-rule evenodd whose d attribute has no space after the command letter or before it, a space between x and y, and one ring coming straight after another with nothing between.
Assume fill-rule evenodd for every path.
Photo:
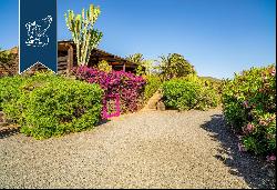
<instances>
[{"instance_id":1,"label":"small yellowish-green tree at the right end of the wooden roof","mask_svg":"<svg viewBox=\"0 0 277 190\"><path fill-rule=\"evenodd\" d=\"M134 53L134 54L131 54L126 58L129 61L132 61L137 66L136 68L136 74L138 76L150 76L151 74L151 70L152 70L152 63L153 61L152 60L145 60L143 58L143 54L142 53Z\"/></svg>"}]
</instances>

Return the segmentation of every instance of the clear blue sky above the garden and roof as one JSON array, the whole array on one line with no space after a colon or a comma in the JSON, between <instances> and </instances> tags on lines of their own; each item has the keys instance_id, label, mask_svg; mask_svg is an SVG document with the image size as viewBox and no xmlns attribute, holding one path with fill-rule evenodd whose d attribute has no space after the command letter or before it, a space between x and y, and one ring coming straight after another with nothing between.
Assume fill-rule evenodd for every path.
<instances>
[{"instance_id":1,"label":"clear blue sky above the garden and roof","mask_svg":"<svg viewBox=\"0 0 277 190\"><path fill-rule=\"evenodd\" d=\"M102 13L100 48L146 59L177 52L199 76L229 78L276 62L275 0L58 0L58 39L70 39L64 12L90 3ZM18 0L0 0L0 47L18 44Z\"/></svg>"}]
</instances>

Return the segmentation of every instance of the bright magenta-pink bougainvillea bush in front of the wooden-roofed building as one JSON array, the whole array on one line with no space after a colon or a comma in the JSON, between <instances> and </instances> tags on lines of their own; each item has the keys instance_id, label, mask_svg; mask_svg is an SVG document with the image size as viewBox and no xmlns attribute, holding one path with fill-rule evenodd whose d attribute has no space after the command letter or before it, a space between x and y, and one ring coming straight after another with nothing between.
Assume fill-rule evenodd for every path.
<instances>
[{"instance_id":1,"label":"bright magenta-pink bougainvillea bush in front of the wooden-roofed building","mask_svg":"<svg viewBox=\"0 0 277 190\"><path fill-rule=\"evenodd\" d=\"M104 104L107 98L119 96L120 107L115 106L115 108L120 108L120 110L116 110L116 112L134 112L142 106L141 102L143 101L143 91L146 83L142 77L124 71L104 72L88 67L74 68L73 73L79 80L99 83L105 91L105 97L103 98ZM104 106L103 118L109 116L105 109L106 107Z\"/></svg>"}]
</instances>

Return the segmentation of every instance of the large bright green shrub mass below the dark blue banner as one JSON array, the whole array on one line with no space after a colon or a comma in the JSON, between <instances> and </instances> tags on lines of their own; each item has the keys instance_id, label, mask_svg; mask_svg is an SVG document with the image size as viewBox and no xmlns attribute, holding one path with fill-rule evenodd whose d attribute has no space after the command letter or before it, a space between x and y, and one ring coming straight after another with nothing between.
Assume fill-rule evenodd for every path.
<instances>
[{"instance_id":1,"label":"large bright green shrub mass below the dark blue banner","mask_svg":"<svg viewBox=\"0 0 277 190\"><path fill-rule=\"evenodd\" d=\"M0 99L8 119L21 126L21 132L37 139L62 136L92 128L99 122L103 91L98 84L89 84L57 76L4 78L6 90ZM17 87L16 87L17 86ZM14 92L12 99L8 92Z\"/></svg>"}]
</instances>

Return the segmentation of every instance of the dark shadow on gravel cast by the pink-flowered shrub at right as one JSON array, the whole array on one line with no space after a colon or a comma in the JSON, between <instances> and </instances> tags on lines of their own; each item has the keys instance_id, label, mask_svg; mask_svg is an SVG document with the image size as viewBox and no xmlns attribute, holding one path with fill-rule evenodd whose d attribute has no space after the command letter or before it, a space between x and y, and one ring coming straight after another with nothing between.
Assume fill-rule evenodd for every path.
<instances>
[{"instance_id":1,"label":"dark shadow on gravel cast by the pink-flowered shrub at right","mask_svg":"<svg viewBox=\"0 0 277 190\"><path fill-rule=\"evenodd\" d=\"M229 167L232 174L243 177L250 188L275 188L274 178L268 176L266 163L238 150L238 138L225 127L222 114L212 116L212 119L202 124L202 128L211 132L213 140L219 141L218 154L214 157Z\"/></svg>"}]
</instances>

